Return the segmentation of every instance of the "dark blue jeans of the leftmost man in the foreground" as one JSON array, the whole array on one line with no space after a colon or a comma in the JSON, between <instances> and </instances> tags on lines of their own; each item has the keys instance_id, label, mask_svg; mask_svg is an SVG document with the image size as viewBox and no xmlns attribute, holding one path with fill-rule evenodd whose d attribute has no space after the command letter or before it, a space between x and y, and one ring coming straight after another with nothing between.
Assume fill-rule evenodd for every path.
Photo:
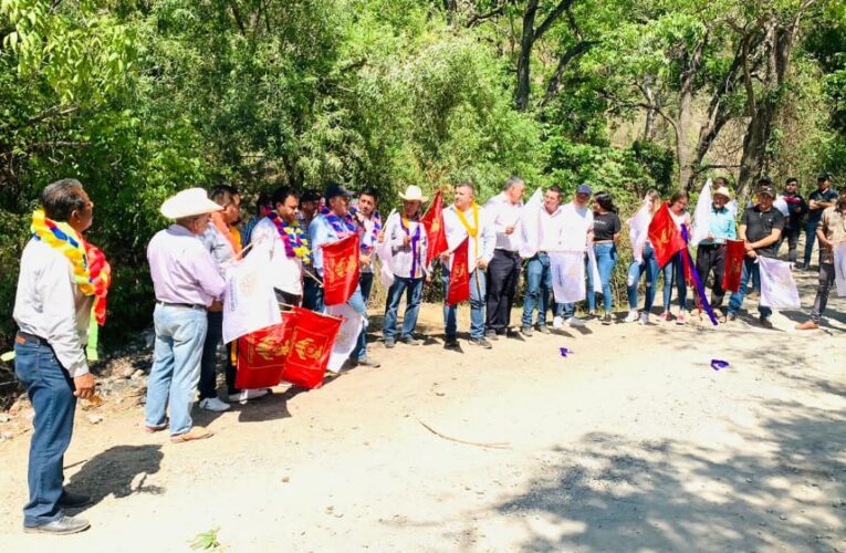
<instances>
[{"instance_id":1,"label":"dark blue jeans of the leftmost man in the foreground","mask_svg":"<svg viewBox=\"0 0 846 553\"><path fill-rule=\"evenodd\" d=\"M30 498L23 507L23 524L39 526L59 519L64 482L64 452L71 445L76 408L74 386L45 343L17 338L14 372L27 387L35 418L30 441L28 483Z\"/></svg>"}]
</instances>

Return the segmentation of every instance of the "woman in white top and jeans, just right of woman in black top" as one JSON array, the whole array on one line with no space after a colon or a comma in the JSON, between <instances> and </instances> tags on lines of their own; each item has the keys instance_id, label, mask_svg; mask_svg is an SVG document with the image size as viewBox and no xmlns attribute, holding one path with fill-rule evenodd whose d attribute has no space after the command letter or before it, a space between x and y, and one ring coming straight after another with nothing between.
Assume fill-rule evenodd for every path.
<instances>
[{"instance_id":1,"label":"woman in white top and jeans, just right of woman in black top","mask_svg":"<svg viewBox=\"0 0 846 553\"><path fill-rule=\"evenodd\" d=\"M658 262L655 260L655 250L649 241L649 222L658 208L661 207L661 197L656 190L649 190L644 198L644 206L629 219L629 238L635 254L634 261L628 268L626 276L626 292L628 294L628 316L625 322L649 324L649 311L655 300L655 283L658 281ZM646 274L646 298L644 299L644 312L637 312L637 284L640 276Z\"/></svg>"}]
</instances>

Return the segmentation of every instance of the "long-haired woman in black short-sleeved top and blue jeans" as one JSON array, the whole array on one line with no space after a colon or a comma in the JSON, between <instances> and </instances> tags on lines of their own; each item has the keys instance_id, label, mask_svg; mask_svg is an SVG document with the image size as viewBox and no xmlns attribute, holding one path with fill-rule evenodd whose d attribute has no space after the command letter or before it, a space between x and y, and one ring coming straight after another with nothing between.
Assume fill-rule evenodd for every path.
<instances>
[{"instance_id":1,"label":"long-haired woman in black short-sleeved top and blue jeans","mask_svg":"<svg viewBox=\"0 0 846 553\"><path fill-rule=\"evenodd\" d=\"M608 192L597 192L594 197L594 253L602 280L603 303L605 315L603 324L610 324L612 292L610 279L614 265L617 264L617 241L619 240L620 222L617 208ZM593 271L587 271L587 310L596 314L596 294L594 292Z\"/></svg>"}]
</instances>

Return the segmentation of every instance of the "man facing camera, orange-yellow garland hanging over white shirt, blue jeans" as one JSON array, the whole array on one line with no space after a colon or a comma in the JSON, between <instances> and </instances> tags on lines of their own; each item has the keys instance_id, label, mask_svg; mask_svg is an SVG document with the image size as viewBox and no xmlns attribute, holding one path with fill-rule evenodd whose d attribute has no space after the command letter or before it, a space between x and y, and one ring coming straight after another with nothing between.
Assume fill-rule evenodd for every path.
<instances>
[{"instance_id":1,"label":"man facing camera, orange-yellow garland hanging over white shirt, blue jeans","mask_svg":"<svg viewBox=\"0 0 846 553\"><path fill-rule=\"evenodd\" d=\"M476 190L471 182L456 186L455 204L443 210L443 226L449 250L441 254L443 265L443 290L449 290L449 272L452 267L453 251L466 238L468 242L468 269L470 271L470 343L491 348L484 338L484 270L493 258L497 236L493 222L484 209L474 200ZM443 347L458 349L457 305L443 305L443 325L447 341Z\"/></svg>"}]
</instances>

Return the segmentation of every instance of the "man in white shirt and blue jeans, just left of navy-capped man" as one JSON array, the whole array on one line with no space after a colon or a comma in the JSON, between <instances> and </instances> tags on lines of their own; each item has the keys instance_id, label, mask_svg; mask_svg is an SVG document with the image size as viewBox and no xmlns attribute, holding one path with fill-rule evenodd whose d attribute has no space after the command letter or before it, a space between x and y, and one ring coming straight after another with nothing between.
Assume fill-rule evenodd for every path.
<instances>
[{"instance_id":1,"label":"man in white shirt and blue jeans, just left of navy-capped man","mask_svg":"<svg viewBox=\"0 0 846 553\"><path fill-rule=\"evenodd\" d=\"M523 320L521 332L532 335L532 312L537 305L537 330L549 334L546 312L550 310L552 292L552 272L550 271L551 251L561 250L561 236L564 226L564 211L561 208L561 188L551 186L543 195L543 208L540 212L540 240L537 253L525 265L525 298L523 299Z\"/></svg>"}]
</instances>

